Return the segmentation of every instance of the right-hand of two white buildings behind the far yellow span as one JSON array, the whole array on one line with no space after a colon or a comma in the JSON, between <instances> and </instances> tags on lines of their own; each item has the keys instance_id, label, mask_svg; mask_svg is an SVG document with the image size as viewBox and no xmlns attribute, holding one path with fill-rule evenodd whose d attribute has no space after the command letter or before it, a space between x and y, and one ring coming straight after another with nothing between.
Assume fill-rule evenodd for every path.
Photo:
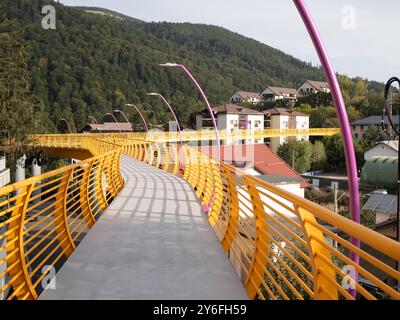
<instances>
[{"instance_id":1,"label":"right-hand of two white buildings behind the far yellow span","mask_svg":"<svg viewBox=\"0 0 400 320\"><path fill-rule=\"evenodd\" d=\"M286 108L273 108L264 111L265 129L305 129L310 128L310 116L305 113ZM308 141L308 136L298 136L297 141ZM266 143L276 152L282 144L288 141L287 137L275 137L267 139Z\"/></svg>"}]
</instances>

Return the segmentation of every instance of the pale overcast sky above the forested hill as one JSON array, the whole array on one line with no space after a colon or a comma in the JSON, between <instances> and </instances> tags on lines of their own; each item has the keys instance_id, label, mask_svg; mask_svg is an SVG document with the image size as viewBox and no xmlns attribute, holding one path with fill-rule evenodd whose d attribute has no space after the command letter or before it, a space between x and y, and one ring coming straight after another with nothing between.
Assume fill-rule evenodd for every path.
<instances>
[{"instance_id":1,"label":"pale overcast sky above the forested hill","mask_svg":"<svg viewBox=\"0 0 400 320\"><path fill-rule=\"evenodd\" d=\"M60 2L108 8L144 21L218 25L319 64L291 0ZM336 71L382 82L400 76L399 0L307 0L307 4Z\"/></svg>"}]
</instances>

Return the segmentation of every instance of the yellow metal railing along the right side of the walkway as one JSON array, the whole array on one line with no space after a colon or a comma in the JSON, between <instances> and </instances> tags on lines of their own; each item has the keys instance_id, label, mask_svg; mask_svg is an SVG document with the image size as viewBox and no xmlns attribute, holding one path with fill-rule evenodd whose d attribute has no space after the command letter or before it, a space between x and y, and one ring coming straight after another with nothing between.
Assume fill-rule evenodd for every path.
<instances>
[{"instance_id":1,"label":"yellow metal railing along the right side of the walkway","mask_svg":"<svg viewBox=\"0 0 400 320\"><path fill-rule=\"evenodd\" d=\"M124 144L124 153L192 185L251 298L353 300L354 287L357 298L400 299L399 243L198 149ZM351 237L360 239L360 249ZM353 283L356 272L377 292Z\"/></svg>"}]
</instances>

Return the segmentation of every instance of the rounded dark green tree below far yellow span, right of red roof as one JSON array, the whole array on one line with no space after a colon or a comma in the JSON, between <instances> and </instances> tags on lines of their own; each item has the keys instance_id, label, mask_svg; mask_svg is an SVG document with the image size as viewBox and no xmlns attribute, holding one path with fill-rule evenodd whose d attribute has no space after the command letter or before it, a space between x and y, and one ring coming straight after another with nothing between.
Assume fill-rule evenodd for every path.
<instances>
[{"instance_id":1,"label":"rounded dark green tree below far yellow span, right of red roof","mask_svg":"<svg viewBox=\"0 0 400 320\"><path fill-rule=\"evenodd\" d=\"M308 141L289 141L278 148L278 155L297 172L310 170L313 145Z\"/></svg>"}]
</instances>

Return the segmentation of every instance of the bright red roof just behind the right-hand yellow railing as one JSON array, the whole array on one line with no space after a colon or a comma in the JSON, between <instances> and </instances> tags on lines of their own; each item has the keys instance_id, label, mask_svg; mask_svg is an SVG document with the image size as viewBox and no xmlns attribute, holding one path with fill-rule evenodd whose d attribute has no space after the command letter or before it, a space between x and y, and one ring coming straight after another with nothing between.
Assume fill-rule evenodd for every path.
<instances>
[{"instance_id":1,"label":"bright red roof just behind the right-hand yellow railing","mask_svg":"<svg viewBox=\"0 0 400 320\"><path fill-rule=\"evenodd\" d=\"M215 156L216 147L202 147L201 151ZM249 152L251 154L249 154ZM263 180L271 183L300 183L301 188L307 188L308 182L304 180L291 166L282 160L265 144L241 144L234 146L221 146L221 160L226 162L248 161L254 169L261 173ZM266 178L266 176L269 176ZM286 177L287 179L284 179ZM286 181L285 181L286 180ZM275 182L273 182L275 181Z\"/></svg>"}]
</instances>

